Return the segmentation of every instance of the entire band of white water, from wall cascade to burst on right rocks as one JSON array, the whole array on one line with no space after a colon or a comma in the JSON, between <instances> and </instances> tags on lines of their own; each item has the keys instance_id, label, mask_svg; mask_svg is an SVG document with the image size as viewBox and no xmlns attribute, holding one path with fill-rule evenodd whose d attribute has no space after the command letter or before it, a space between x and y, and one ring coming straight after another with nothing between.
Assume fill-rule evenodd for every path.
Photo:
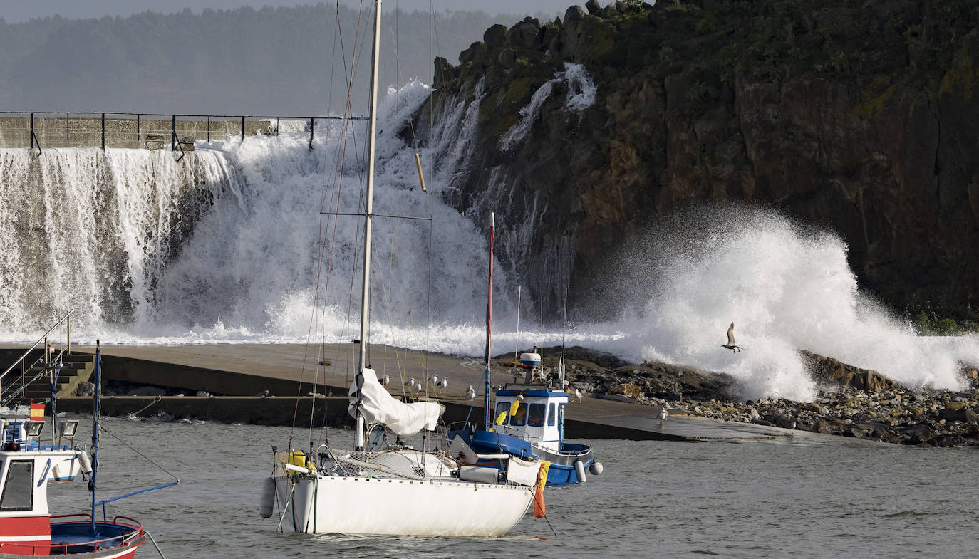
<instances>
[{"instance_id":1,"label":"entire band of white water, from wall cascade to burst on right rocks","mask_svg":"<svg viewBox=\"0 0 979 559\"><path fill-rule=\"evenodd\" d=\"M376 211L433 221L375 222L372 332L378 342L479 354L486 233L474 221L513 196L512 178L493 169L471 215L443 203L468 172L480 90L440 116L430 147L419 148L429 186L421 192L401 134L429 92L410 83L380 112ZM180 163L165 151L0 151L0 340L32 342L69 308L81 341L302 342L310 330L326 341L355 337L362 224L320 212L361 208L357 126L346 146L336 129L317 133L312 151L304 134L235 139L201 144ZM338 161L346 169L339 190ZM548 210L542 198L521 203L533 208L528 215ZM507 258L527 263L534 227L498 228ZM915 336L863 297L835 235L744 207L687 212L654 230L627 248L592 298L629 314L579 320L569 345L728 372L748 397L812 396L797 349L912 386L954 388L956 363L979 363L975 337ZM332 253L320 252L323 239L334 241ZM560 343L560 332L538 332L539 308L527 299L518 337L513 300L518 283L544 281L571 250L555 243L554 262L497 268L498 352ZM744 352L720 348L731 321Z\"/></svg>"}]
</instances>

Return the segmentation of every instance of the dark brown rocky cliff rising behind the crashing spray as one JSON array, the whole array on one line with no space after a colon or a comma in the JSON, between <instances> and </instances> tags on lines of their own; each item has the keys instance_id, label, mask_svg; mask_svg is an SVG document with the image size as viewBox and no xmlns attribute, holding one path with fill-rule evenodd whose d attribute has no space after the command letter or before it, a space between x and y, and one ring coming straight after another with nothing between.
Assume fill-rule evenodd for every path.
<instances>
[{"instance_id":1,"label":"dark brown rocky cliff rising behind the crashing spray","mask_svg":"<svg viewBox=\"0 0 979 559\"><path fill-rule=\"evenodd\" d=\"M900 309L974 317L977 28L974 1L590 0L438 59L416 127L474 130L445 196L525 225L500 252L551 304L652 217L739 201L837 232Z\"/></svg>"}]
</instances>

